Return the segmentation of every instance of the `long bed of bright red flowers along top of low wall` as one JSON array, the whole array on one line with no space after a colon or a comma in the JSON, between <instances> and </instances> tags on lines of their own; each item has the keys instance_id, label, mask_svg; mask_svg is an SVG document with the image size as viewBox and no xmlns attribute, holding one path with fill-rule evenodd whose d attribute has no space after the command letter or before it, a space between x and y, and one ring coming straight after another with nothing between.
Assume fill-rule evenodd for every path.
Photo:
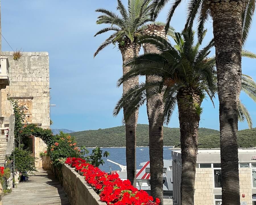
<instances>
[{"instance_id":1,"label":"long bed of bright red flowers along top of low wall","mask_svg":"<svg viewBox=\"0 0 256 205\"><path fill-rule=\"evenodd\" d=\"M84 176L84 179L94 187L99 194L100 200L113 205L154 205L160 204L160 200L149 196L146 191L139 191L131 185L129 180L122 181L118 174L108 175L98 167L86 163L82 158L69 157L66 164L74 167Z\"/></svg>"}]
</instances>

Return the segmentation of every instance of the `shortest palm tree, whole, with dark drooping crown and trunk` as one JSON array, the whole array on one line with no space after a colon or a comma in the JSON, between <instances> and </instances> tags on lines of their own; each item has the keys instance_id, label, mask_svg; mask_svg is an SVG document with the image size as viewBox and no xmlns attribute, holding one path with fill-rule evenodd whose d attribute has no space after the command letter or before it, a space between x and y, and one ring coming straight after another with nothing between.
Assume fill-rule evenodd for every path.
<instances>
[{"instance_id":1,"label":"shortest palm tree, whole, with dark drooping crown and trunk","mask_svg":"<svg viewBox=\"0 0 256 205\"><path fill-rule=\"evenodd\" d=\"M117 103L114 114L117 115L126 102L130 102L125 115L129 119L131 113L146 100L163 93L162 115L168 124L177 103L182 153L181 201L183 205L191 205L194 204L201 103L205 94L212 99L216 91L215 62L214 59L207 59L213 41L199 50L201 41L194 43L193 32L175 33L174 40L175 47L167 39L158 36L147 36L141 40L141 43L154 45L160 54L144 54L130 62L133 69L119 80L119 85L139 75L157 79L131 88ZM158 155L154 157L158 158Z\"/></svg>"}]
</instances>

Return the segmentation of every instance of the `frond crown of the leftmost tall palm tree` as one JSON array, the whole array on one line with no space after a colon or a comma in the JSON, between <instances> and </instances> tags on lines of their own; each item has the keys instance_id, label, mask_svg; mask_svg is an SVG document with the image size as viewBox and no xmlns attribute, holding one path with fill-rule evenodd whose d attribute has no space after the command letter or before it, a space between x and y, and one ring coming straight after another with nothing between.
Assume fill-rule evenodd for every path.
<instances>
[{"instance_id":1,"label":"frond crown of the leftmost tall palm tree","mask_svg":"<svg viewBox=\"0 0 256 205\"><path fill-rule=\"evenodd\" d=\"M146 28L145 24L150 22L150 1L129 0L128 9L126 9L121 0L117 0L117 10L120 15L106 9L96 10L101 13L96 23L109 24L110 27L101 29L95 36L107 31L114 31L114 33L100 45L94 57L111 43L124 44L126 40L134 42Z\"/></svg>"}]
</instances>

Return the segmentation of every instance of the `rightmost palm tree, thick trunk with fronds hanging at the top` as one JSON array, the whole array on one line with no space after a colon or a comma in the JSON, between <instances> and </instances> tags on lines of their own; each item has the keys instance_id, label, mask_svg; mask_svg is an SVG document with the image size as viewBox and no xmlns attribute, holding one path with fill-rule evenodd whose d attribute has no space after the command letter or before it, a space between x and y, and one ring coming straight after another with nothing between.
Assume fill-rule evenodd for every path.
<instances>
[{"instance_id":1,"label":"rightmost palm tree, thick trunk with fronds hanging at the top","mask_svg":"<svg viewBox=\"0 0 256 205\"><path fill-rule=\"evenodd\" d=\"M169 0L154 0L152 18ZM182 0L175 0L168 12L166 29ZM240 204L238 173L238 106L241 90L241 49L255 9L255 0L190 0L187 24L191 28L198 15L199 38L210 15L216 50L218 96L220 102L220 149L222 168L222 204ZM232 194L232 197L230 196Z\"/></svg>"}]
</instances>

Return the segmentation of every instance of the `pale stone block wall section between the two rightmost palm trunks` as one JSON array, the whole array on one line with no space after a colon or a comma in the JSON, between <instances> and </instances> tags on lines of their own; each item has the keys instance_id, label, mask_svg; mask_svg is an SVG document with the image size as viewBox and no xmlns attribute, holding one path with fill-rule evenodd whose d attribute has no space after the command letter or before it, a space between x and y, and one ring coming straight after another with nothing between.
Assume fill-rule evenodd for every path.
<instances>
[{"instance_id":1,"label":"pale stone block wall section between the two rightmost palm trunks","mask_svg":"<svg viewBox=\"0 0 256 205\"><path fill-rule=\"evenodd\" d=\"M213 171L208 168L197 168L195 174L195 205L214 204L213 195Z\"/></svg>"}]
</instances>

